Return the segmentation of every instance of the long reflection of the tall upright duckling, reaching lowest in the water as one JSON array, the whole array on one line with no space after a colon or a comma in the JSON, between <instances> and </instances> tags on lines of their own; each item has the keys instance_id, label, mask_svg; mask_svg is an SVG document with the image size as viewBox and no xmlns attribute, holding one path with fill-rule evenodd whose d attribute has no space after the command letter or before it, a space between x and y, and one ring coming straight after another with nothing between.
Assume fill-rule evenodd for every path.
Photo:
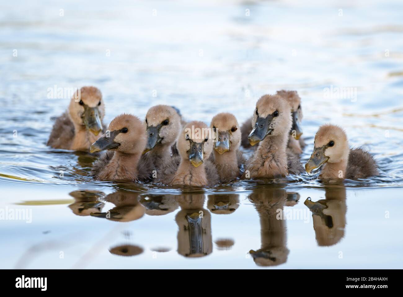
<instances>
[{"instance_id":1,"label":"long reflection of the tall upright duckling, reaching lowest in the water","mask_svg":"<svg viewBox=\"0 0 403 297\"><path fill-rule=\"evenodd\" d=\"M257 251L250 250L253 261L258 266L276 266L287 262L286 222L277 219L278 209L283 211L287 202L287 192L281 186L266 185L248 196L255 204L260 217L262 246Z\"/></svg>"}]
</instances>

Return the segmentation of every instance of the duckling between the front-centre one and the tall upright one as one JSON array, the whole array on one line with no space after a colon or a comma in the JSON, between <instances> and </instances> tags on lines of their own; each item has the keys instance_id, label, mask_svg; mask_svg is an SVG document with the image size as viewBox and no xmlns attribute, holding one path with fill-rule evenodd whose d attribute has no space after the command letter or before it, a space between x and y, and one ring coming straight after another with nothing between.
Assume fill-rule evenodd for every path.
<instances>
[{"instance_id":1,"label":"duckling between the front-centre one and the tall upright one","mask_svg":"<svg viewBox=\"0 0 403 297\"><path fill-rule=\"evenodd\" d=\"M212 157L220 182L228 183L241 177L240 166L244 160L239 150L241 130L237 118L226 112L216 114L211 120L210 128L216 133Z\"/></svg>"}]
</instances>

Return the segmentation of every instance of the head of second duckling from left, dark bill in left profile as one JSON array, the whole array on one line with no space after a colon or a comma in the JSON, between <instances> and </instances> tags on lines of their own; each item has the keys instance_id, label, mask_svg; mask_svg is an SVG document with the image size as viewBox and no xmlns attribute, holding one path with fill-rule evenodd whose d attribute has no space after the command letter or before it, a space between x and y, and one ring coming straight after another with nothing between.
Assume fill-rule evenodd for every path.
<instances>
[{"instance_id":1,"label":"head of second duckling from left, dark bill in left profile","mask_svg":"<svg viewBox=\"0 0 403 297\"><path fill-rule=\"evenodd\" d=\"M125 154L141 154L146 141L145 126L141 120L131 114L121 114L110 122L108 131L91 145L89 151L116 150Z\"/></svg>"}]
</instances>

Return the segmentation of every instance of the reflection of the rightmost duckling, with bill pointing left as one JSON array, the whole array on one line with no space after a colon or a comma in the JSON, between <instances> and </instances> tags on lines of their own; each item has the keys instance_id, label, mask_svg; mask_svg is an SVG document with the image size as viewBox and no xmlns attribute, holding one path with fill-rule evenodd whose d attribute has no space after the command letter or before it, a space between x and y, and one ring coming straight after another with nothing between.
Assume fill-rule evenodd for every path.
<instances>
[{"instance_id":1,"label":"reflection of the rightmost duckling, with bill pointing left","mask_svg":"<svg viewBox=\"0 0 403 297\"><path fill-rule=\"evenodd\" d=\"M332 246L344 237L346 226L346 189L344 185L327 185L326 199L313 202L308 197L304 204L312 212L318 246Z\"/></svg>"}]
</instances>

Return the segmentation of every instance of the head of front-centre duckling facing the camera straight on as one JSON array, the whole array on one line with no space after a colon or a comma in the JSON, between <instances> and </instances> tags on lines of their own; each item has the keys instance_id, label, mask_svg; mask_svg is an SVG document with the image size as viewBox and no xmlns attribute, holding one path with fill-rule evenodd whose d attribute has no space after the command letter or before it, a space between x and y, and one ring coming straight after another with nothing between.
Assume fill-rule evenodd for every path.
<instances>
[{"instance_id":1,"label":"head of front-centre duckling facing the camera straight on","mask_svg":"<svg viewBox=\"0 0 403 297\"><path fill-rule=\"evenodd\" d=\"M198 167L213 150L211 129L204 122L189 122L179 135L177 145L181 157L189 159L193 166Z\"/></svg>"}]
</instances>

